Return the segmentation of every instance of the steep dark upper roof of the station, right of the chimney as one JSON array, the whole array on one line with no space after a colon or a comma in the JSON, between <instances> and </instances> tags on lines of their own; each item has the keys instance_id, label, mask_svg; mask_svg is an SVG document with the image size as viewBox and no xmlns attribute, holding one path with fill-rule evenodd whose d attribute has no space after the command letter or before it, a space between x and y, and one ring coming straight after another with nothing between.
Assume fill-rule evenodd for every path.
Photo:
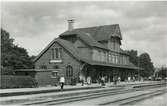
<instances>
[{"instance_id":1,"label":"steep dark upper roof of the station, right of the chimney","mask_svg":"<svg viewBox=\"0 0 167 106\"><path fill-rule=\"evenodd\" d=\"M118 24L103 25L103 26L88 27L88 28L77 28L71 31L65 31L59 36L65 37L71 35L77 35L79 38L84 40L84 42L90 46L99 47L106 50L108 50L108 48L105 47L103 44L99 43L98 41L108 40L111 36L122 39ZM122 51L120 52L124 53Z\"/></svg>"}]
</instances>

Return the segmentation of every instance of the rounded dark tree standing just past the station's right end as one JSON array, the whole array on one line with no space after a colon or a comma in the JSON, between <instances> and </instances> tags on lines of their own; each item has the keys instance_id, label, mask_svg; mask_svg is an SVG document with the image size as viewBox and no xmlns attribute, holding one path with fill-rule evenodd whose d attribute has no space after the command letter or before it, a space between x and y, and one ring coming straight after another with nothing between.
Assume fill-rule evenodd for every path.
<instances>
[{"instance_id":1,"label":"rounded dark tree standing just past the station's right end","mask_svg":"<svg viewBox=\"0 0 167 106\"><path fill-rule=\"evenodd\" d=\"M148 53L139 56L139 66L144 70L140 73L142 77L149 77L154 73L154 66Z\"/></svg>"}]
</instances>

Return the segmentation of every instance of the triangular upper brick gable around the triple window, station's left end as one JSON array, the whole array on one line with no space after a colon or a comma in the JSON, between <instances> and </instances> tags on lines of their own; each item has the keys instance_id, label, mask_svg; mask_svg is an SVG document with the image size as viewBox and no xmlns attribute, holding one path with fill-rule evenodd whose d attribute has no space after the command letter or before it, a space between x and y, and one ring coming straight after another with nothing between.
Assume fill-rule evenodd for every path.
<instances>
[{"instance_id":1,"label":"triangular upper brick gable around the triple window, station's left end","mask_svg":"<svg viewBox=\"0 0 167 106\"><path fill-rule=\"evenodd\" d=\"M52 50L53 48L61 48L61 58L54 59L52 57ZM54 62L54 60L60 60L59 62ZM54 66L59 66L60 69L64 70L65 66L71 64L71 65L77 65L80 64L78 59L74 57L74 55L67 50L65 47L63 47L60 43L54 42L48 49L42 53L42 55L36 60L35 62L35 68L39 69L41 66L46 66L47 69L53 69Z\"/></svg>"}]
</instances>

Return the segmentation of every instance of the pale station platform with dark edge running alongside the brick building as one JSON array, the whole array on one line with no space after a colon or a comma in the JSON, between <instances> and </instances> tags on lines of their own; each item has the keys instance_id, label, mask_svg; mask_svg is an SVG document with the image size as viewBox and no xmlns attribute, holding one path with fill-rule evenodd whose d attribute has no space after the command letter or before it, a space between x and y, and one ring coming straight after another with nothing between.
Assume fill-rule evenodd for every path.
<instances>
[{"instance_id":1,"label":"pale station platform with dark edge running alongside the brick building","mask_svg":"<svg viewBox=\"0 0 167 106\"><path fill-rule=\"evenodd\" d=\"M121 87L128 85L136 85L136 84L151 84L156 83L157 81L135 81L135 82L118 82L117 85L111 83L106 83L105 87ZM84 85L78 83L75 86L65 85L64 89L61 90L60 86L46 86L46 87L38 87L38 88L14 88L14 89L0 89L0 97L8 97L8 96L18 96L18 95L31 95L31 94L40 94L40 93L51 93L51 92L65 92L65 91L76 91L76 90L87 90L87 89L98 89L102 88L100 84L93 83L91 85Z\"/></svg>"}]
</instances>

